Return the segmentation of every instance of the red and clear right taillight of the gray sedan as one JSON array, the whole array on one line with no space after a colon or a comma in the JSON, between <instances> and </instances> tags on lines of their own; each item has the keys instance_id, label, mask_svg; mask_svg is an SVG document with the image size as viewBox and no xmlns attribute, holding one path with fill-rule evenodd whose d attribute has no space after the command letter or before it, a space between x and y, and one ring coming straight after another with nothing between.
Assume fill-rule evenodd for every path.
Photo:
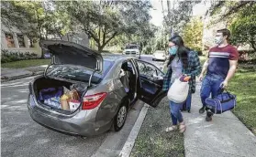
<instances>
[{"instance_id":1,"label":"red and clear right taillight of the gray sedan","mask_svg":"<svg viewBox=\"0 0 256 157\"><path fill-rule=\"evenodd\" d=\"M95 107L97 107L105 98L106 93L84 96L82 110L95 109Z\"/></svg>"}]
</instances>

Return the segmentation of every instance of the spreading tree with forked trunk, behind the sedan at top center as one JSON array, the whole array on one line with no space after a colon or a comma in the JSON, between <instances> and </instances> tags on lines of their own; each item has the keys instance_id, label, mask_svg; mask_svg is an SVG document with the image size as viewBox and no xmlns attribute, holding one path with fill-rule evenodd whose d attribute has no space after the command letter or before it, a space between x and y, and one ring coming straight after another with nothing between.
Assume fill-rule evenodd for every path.
<instances>
[{"instance_id":1,"label":"spreading tree with forked trunk, behind the sedan at top center","mask_svg":"<svg viewBox=\"0 0 256 157\"><path fill-rule=\"evenodd\" d=\"M150 21L148 1L70 1L56 4L95 40L99 52L119 35L131 36L146 29L143 26Z\"/></svg>"}]
</instances>

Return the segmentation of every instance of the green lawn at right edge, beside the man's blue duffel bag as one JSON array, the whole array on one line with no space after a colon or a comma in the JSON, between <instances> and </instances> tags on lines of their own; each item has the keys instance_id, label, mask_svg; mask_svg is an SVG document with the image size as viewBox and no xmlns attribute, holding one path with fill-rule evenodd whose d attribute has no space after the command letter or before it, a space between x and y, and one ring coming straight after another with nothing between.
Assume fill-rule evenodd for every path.
<instances>
[{"instance_id":1,"label":"green lawn at right edge, beside the man's blue duffel bag","mask_svg":"<svg viewBox=\"0 0 256 157\"><path fill-rule=\"evenodd\" d=\"M234 114L256 134L256 66L240 64L228 90L237 95Z\"/></svg>"}]
</instances>

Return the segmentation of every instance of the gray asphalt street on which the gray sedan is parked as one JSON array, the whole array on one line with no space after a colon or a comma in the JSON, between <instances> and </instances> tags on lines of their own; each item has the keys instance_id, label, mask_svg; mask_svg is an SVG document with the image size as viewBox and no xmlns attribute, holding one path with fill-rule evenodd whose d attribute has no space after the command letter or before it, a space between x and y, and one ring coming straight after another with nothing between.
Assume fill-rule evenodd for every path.
<instances>
[{"instance_id":1,"label":"gray asphalt street on which the gray sedan is parked","mask_svg":"<svg viewBox=\"0 0 256 157\"><path fill-rule=\"evenodd\" d=\"M145 55L141 59L152 60ZM161 66L162 62L152 63ZM91 138L64 135L50 131L30 118L27 108L28 82L33 78L1 84L2 156L92 156L106 150L117 154L122 149L143 106L141 101L129 111L128 120L119 132L108 131Z\"/></svg>"}]
</instances>

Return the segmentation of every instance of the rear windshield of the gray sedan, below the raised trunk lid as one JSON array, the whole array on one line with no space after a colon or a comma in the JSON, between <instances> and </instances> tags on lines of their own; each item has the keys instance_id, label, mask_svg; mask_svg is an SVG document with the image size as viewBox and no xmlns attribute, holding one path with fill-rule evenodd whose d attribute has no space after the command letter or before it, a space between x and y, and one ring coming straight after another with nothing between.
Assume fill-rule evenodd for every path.
<instances>
[{"instance_id":1,"label":"rear windshield of the gray sedan, below the raised trunk lid","mask_svg":"<svg viewBox=\"0 0 256 157\"><path fill-rule=\"evenodd\" d=\"M98 84L103 78L105 78L109 69L113 66L112 61L104 60L103 73L95 73L92 78L92 83ZM51 65L47 70L47 76L52 78L65 78L76 81L88 82L93 71L74 65Z\"/></svg>"}]
</instances>

